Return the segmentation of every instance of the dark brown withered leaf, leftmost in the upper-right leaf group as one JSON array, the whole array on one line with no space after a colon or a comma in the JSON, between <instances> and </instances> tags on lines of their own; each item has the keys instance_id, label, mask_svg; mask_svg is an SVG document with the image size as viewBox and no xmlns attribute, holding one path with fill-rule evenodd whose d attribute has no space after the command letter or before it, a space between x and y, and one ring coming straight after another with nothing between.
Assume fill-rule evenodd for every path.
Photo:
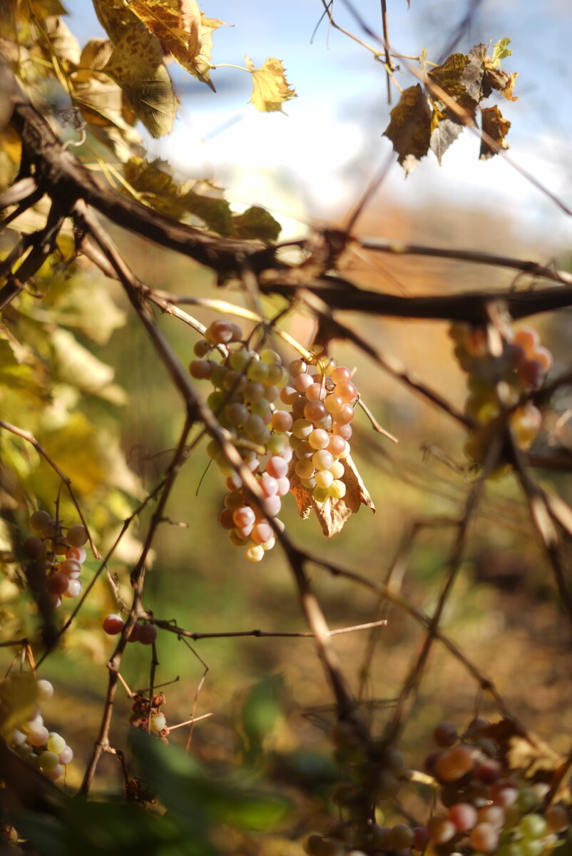
<instances>
[{"instance_id":1,"label":"dark brown withered leaf, leftmost in the upper-right leaf group","mask_svg":"<svg viewBox=\"0 0 572 856\"><path fill-rule=\"evenodd\" d=\"M426 155L431 140L431 111L419 83L402 92L399 104L391 110L383 136L393 143L397 161L407 174Z\"/></svg>"}]
</instances>

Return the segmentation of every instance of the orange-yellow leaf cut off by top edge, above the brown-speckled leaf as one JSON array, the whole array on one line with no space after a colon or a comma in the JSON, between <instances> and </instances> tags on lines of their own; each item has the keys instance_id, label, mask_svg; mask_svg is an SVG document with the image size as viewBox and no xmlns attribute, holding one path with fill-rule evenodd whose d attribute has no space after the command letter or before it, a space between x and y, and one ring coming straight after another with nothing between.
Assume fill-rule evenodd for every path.
<instances>
[{"instance_id":1,"label":"orange-yellow leaf cut off by top edge, above the brown-speckled leaf","mask_svg":"<svg viewBox=\"0 0 572 856\"><path fill-rule=\"evenodd\" d=\"M133 0L129 8L183 67L194 61L202 46L196 0Z\"/></svg>"}]
</instances>

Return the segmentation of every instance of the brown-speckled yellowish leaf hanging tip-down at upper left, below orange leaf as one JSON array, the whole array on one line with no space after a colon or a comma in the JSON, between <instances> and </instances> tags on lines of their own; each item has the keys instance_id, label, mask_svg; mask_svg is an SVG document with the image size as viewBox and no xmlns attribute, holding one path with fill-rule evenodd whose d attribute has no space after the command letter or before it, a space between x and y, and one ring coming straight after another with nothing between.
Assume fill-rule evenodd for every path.
<instances>
[{"instance_id":1,"label":"brown-speckled yellowish leaf hanging tip-down at upper left, below orange leaf","mask_svg":"<svg viewBox=\"0 0 572 856\"><path fill-rule=\"evenodd\" d=\"M117 42L104 70L121 86L134 114L152 137L170 134L177 100L161 44L152 33L140 23L130 27Z\"/></svg>"}]
</instances>

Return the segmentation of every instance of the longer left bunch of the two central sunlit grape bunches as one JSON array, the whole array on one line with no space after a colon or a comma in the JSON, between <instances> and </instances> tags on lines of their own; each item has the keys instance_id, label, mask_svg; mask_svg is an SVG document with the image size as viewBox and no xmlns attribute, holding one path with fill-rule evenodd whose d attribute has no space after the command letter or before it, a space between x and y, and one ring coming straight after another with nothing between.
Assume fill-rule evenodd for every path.
<instances>
[{"instance_id":1,"label":"longer left bunch of the two central sunlit grape bunches","mask_svg":"<svg viewBox=\"0 0 572 856\"><path fill-rule=\"evenodd\" d=\"M220 362L212 359L217 346L224 345L226 354ZM205 339L194 346L200 358L189 366L192 377L208 378L214 391L207 403L217 419L229 431L229 437L241 453L266 497L266 514L253 508L242 490L242 481L224 460L215 441L207 454L226 477L228 493L219 523L229 532L232 544L244 547L251 562L259 562L274 545L274 532L268 516L282 526L277 514L282 497L290 490L288 465L292 449L286 432L292 427L292 416L277 406L280 389L288 381L288 372L280 354L266 348L260 354L247 348L242 332L229 321L214 321Z\"/></svg>"}]
</instances>

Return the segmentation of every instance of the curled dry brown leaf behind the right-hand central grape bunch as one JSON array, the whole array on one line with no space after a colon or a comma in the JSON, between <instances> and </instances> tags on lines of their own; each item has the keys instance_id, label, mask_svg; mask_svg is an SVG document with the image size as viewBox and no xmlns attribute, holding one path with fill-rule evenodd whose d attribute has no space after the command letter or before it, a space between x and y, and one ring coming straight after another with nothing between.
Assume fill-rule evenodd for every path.
<instances>
[{"instance_id":1,"label":"curled dry brown leaf behind the right-hand central grape bunch","mask_svg":"<svg viewBox=\"0 0 572 856\"><path fill-rule=\"evenodd\" d=\"M344 470L342 480L346 485L345 496L341 499L328 497L325 502L316 502L313 495L302 486L300 480L295 478L294 468L290 467L292 483L290 492L294 495L298 514L303 520L307 520L310 514L314 512L326 538L331 538L332 535L341 532L346 520L352 514L356 514L361 505L371 508L373 512L375 511L372 497L369 495L354 461L348 455L347 458L342 459L342 463Z\"/></svg>"}]
</instances>

